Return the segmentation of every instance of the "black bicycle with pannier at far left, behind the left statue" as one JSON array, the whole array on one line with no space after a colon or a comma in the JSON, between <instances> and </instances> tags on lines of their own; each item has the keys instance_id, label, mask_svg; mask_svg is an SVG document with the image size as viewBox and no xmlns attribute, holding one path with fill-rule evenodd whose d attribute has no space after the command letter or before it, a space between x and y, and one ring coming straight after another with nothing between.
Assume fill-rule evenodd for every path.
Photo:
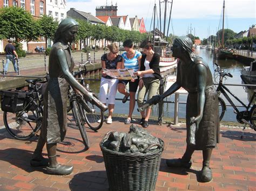
<instances>
[{"instance_id":1,"label":"black bicycle with pannier at far left, behind the left statue","mask_svg":"<svg viewBox=\"0 0 256 191\"><path fill-rule=\"evenodd\" d=\"M2 91L4 96L6 93L23 94L21 109L13 111L4 111L3 119L6 130L10 135L19 140L27 140L35 136L41 129L43 119L43 96L40 91L43 84L38 86L37 82L42 79L29 79L25 80L29 83L30 90L27 92L22 91ZM13 101L12 101L13 102ZM17 105L16 105L17 107Z\"/></svg>"}]
</instances>

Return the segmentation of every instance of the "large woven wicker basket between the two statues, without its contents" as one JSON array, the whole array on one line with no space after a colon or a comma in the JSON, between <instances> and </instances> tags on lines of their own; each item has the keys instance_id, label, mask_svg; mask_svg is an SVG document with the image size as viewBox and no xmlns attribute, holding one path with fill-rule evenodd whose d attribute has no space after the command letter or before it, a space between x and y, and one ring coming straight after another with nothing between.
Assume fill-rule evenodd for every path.
<instances>
[{"instance_id":1,"label":"large woven wicker basket between the two statues, without its contents","mask_svg":"<svg viewBox=\"0 0 256 191\"><path fill-rule=\"evenodd\" d=\"M110 190L154 190L164 142L156 150L144 153L122 153L99 144L106 167Z\"/></svg>"}]
</instances>

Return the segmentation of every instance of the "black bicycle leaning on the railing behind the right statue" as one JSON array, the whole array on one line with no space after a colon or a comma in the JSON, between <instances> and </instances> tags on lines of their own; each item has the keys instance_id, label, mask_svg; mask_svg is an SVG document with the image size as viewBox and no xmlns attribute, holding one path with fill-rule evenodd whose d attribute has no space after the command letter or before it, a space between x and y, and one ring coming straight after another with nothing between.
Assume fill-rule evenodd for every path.
<instances>
[{"instance_id":1,"label":"black bicycle leaning on the railing behind the right statue","mask_svg":"<svg viewBox=\"0 0 256 191\"><path fill-rule=\"evenodd\" d=\"M221 70L217 63L214 63L214 64L215 64L215 66L217 66L217 69L215 69L215 72L217 72L219 74L219 83L218 83L218 87L217 87L217 93L218 93L218 100L219 100L219 114L220 114L219 117L220 117L220 121L223 118L223 116L225 114L225 111L226 111L226 104L225 104L224 100L220 97L220 94L223 94L224 97L227 99L227 101L234 108L234 113L237 114L237 121L239 123L241 123L241 124L245 124L244 130L246 128L246 125L249 125L250 128L252 128L253 130L256 131L256 128L255 128L255 123L256 123L256 106L253 103L253 100L254 100L254 97L255 97L255 90L254 90L254 93L253 93L253 96L252 96L250 102L248 103L248 105L246 105L241 100L239 100L239 98L237 96L235 96L233 93L231 93L231 91L223 84L223 79L226 76L227 77L233 77L232 74L226 73L226 72L224 72L224 70ZM239 111L238 110L238 108L235 106L234 102L228 96L226 91L230 95L232 95L232 97L234 97L235 100L237 100L239 103L242 104L242 107L245 108L244 111ZM252 105L252 107L251 107L251 105ZM242 133L241 138L242 138L243 135L244 135L244 132Z\"/></svg>"}]
</instances>

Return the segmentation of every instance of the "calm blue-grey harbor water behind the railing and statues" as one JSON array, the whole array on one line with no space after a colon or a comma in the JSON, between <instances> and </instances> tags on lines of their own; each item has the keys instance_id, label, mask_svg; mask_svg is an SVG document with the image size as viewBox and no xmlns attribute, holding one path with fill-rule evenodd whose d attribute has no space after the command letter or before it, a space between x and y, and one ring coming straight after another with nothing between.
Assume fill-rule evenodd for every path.
<instances>
[{"instance_id":1,"label":"calm blue-grey harbor water behind the railing and statues","mask_svg":"<svg viewBox=\"0 0 256 191\"><path fill-rule=\"evenodd\" d=\"M195 54L200 56L201 58L204 59L204 61L208 64L208 66L211 69L212 75L213 75L213 81L214 83L219 82L219 75L214 72L214 64L213 64L213 52L208 51L206 49L196 49ZM227 77L227 79L224 80L224 83L229 83L229 84L242 84L241 80L241 69L243 68L243 64L241 62L238 62L236 60L216 60L218 65L220 66L221 69L224 69L225 72L229 72L233 75L233 77ZM92 82L90 81L90 88L96 92L96 94L99 93L99 81ZM227 86L228 89L231 90L233 94L235 94L242 102L245 104L248 104L248 99L250 98L249 96L253 93L253 90L247 89L243 86ZM224 96L221 96L226 104L228 103ZM120 93L117 93L116 98L123 98L123 95ZM137 98L137 95L136 95ZM180 94L179 95L179 102L186 102L187 95ZM232 98L233 102L236 105L241 105L238 101L234 100ZM167 98L165 98L165 101L173 101L174 102L174 95L171 95ZM139 116L139 112L137 111L137 103L135 105L133 115ZM243 108L239 108L239 110L243 110ZM127 115L129 112L129 101L126 103L122 103L122 101L116 101L115 108L114 108L114 113L115 114L125 114ZM153 110L152 110L152 116L158 117L158 105L154 105ZM186 115L186 104L179 104L179 112L178 112L178 118L185 118ZM174 117L174 104L173 103L164 103L164 109L163 109L163 118L173 118ZM225 115L223 117L223 121L232 121L236 122L236 115L233 112L232 107L227 107L227 111L225 112Z\"/></svg>"}]
</instances>

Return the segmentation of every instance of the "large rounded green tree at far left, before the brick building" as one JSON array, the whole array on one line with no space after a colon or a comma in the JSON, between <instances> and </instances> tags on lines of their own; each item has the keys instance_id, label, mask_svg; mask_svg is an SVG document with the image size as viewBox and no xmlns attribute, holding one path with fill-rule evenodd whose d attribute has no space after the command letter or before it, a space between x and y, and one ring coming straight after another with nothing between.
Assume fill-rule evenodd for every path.
<instances>
[{"instance_id":1,"label":"large rounded green tree at far left, before the brick building","mask_svg":"<svg viewBox=\"0 0 256 191\"><path fill-rule=\"evenodd\" d=\"M0 9L0 38L14 38L20 48L22 40L37 40L37 24L32 15L22 8L11 6Z\"/></svg>"}]
</instances>

